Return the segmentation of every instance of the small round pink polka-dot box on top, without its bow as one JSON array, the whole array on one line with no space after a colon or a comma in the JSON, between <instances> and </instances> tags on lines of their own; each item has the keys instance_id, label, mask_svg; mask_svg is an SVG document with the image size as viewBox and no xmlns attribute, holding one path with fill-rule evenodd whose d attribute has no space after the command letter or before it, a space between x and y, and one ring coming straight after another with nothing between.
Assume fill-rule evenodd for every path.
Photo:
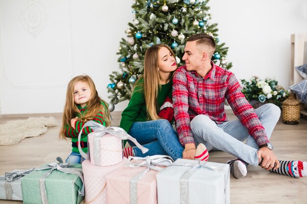
<instances>
[{"instance_id":1,"label":"small round pink polka-dot box on top, without its bow","mask_svg":"<svg viewBox=\"0 0 307 204\"><path fill-rule=\"evenodd\" d=\"M123 160L122 139L105 134L99 140L96 138L95 141L94 137L99 134L99 132L93 132L87 136L91 163L96 166L111 166L120 163Z\"/></svg>"}]
</instances>

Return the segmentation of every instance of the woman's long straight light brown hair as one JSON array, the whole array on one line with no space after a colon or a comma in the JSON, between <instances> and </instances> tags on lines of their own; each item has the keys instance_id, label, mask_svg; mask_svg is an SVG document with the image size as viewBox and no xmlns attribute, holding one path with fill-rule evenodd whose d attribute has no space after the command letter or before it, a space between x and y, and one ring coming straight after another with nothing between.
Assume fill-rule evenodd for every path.
<instances>
[{"instance_id":1,"label":"woman's long straight light brown hair","mask_svg":"<svg viewBox=\"0 0 307 204\"><path fill-rule=\"evenodd\" d=\"M172 55L175 57L173 50L164 44L157 44L149 47L145 52L144 57L144 96L147 113L149 119L157 120L160 117L157 115L158 105L157 105L157 95L158 89L161 89L160 76L158 72L159 59L158 53L161 47L166 47ZM175 60L176 61L176 60ZM177 64L177 62L176 62ZM171 75L172 80L173 74Z\"/></svg>"}]
</instances>

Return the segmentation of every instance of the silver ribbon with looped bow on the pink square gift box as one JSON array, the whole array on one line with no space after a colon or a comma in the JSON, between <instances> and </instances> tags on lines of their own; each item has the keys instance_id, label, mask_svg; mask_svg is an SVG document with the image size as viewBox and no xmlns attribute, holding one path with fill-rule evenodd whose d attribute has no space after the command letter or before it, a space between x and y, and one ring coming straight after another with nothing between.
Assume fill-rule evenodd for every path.
<instances>
[{"instance_id":1,"label":"silver ribbon with looped bow on the pink square gift box","mask_svg":"<svg viewBox=\"0 0 307 204\"><path fill-rule=\"evenodd\" d=\"M144 174L146 174L150 169L155 171L162 171L164 168L158 167L159 166L169 166L173 163L173 159L169 156L165 155L154 155L154 156L147 156L147 157L129 157L128 160L131 159L141 160L141 162L129 162L126 166L129 167L147 167L143 172L135 175L129 182L130 186L130 204L137 204L137 181L142 178Z\"/></svg>"}]
</instances>

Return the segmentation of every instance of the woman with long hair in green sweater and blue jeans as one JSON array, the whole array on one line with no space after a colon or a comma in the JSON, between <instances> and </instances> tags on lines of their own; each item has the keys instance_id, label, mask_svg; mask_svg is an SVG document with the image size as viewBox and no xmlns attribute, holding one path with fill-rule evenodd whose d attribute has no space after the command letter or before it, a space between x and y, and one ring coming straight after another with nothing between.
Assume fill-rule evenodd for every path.
<instances>
[{"instance_id":1,"label":"woman with long hair in green sweater and blue jeans","mask_svg":"<svg viewBox=\"0 0 307 204\"><path fill-rule=\"evenodd\" d=\"M169 155L182 158L183 147L171 123L172 76L177 69L173 50L167 45L153 45L146 50L144 75L135 83L128 107L122 113L120 127L149 151L135 145L124 149L124 156ZM205 150L206 151L206 150Z\"/></svg>"}]
</instances>

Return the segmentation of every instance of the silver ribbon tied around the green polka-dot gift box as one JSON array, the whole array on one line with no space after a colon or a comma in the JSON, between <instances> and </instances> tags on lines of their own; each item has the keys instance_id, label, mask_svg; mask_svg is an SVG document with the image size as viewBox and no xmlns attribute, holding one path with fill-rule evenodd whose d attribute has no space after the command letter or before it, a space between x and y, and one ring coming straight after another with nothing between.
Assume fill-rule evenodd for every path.
<instances>
[{"instance_id":1,"label":"silver ribbon tied around the green polka-dot gift box","mask_svg":"<svg viewBox=\"0 0 307 204\"><path fill-rule=\"evenodd\" d=\"M67 174L75 174L77 175L81 181L82 181L82 188L78 191L78 196L84 196L84 181L83 181L83 175L82 175L82 169L81 168L74 168L74 165L71 163L48 163L47 167L43 168L36 168L35 171L41 171L50 169L40 180L39 180L39 188L41 192L41 200L42 204L49 204L48 197L47 197L47 191L46 191L46 184L45 179L51 174L53 170L58 170Z\"/></svg>"}]
</instances>

